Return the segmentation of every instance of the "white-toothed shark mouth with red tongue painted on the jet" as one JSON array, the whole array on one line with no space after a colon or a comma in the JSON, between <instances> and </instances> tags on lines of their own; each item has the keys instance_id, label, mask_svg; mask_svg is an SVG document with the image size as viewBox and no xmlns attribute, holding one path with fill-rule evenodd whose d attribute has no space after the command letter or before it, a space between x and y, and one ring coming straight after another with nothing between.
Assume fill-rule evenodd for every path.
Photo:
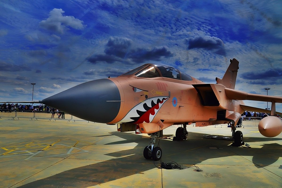
<instances>
[{"instance_id":1,"label":"white-toothed shark mouth with red tongue painted on the jet","mask_svg":"<svg viewBox=\"0 0 282 188\"><path fill-rule=\"evenodd\" d=\"M133 107L121 122L134 124L150 123L166 100L168 100L168 96L149 98Z\"/></svg>"}]
</instances>

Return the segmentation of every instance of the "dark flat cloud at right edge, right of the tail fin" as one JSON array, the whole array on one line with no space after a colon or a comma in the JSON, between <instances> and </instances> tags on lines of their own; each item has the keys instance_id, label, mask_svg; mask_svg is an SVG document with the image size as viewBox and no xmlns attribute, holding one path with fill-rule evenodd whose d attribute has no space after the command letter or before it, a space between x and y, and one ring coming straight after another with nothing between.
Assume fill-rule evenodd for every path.
<instances>
[{"instance_id":1,"label":"dark flat cloud at right edge, right of the tail fin","mask_svg":"<svg viewBox=\"0 0 282 188\"><path fill-rule=\"evenodd\" d=\"M243 79L281 79L282 69L281 68L271 68L264 72L245 72L241 75Z\"/></svg>"}]
</instances>

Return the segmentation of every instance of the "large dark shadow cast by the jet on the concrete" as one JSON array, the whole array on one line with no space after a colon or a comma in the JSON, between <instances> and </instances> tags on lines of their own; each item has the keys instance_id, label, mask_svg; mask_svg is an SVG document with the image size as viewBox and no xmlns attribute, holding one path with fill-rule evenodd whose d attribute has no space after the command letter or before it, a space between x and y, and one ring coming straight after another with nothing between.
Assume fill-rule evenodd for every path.
<instances>
[{"instance_id":1,"label":"large dark shadow cast by the jet on the concrete","mask_svg":"<svg viewBox=\"0 0 282 188\"><path fill-rule=\"evenodd\" d=\"M109 156L121 158L70 169L41 180L27 183L20 187L89 187L142 173L156 167L152 159L147 160L143 157L143 149L149 143L149 137L144 138L141 135L120 132L111 132L109 134L118 136L125 140L111 142L107 145L125 144L131 142L135 142L137 145L133 149L107 154ZM207 139L204 138L203 135L206 134L190 132L188 134L188 139L184 141L160 139L159 145L163 152L161 161L165 163L169 161L176 161L178 164L188 167L193 166L193 164L199 164L207 159L239 155L253 156L252 162L257 168L261 168L273 164L279 159L279 157L282 157L282 147L277 143L263 144L262 148L234 147L228 146L233 141ZM164 137L169 136L171 135L164 135ZM281 140L282 139L266 137L244 138L244 142L248 143L266 143L268 141L275 142ZM158 141L156 144L157 143ZM214 149L210 148L220 149L215 152ZM160 161L155 161L155 164L160 166Z\"/></svg>"}]
</instances>

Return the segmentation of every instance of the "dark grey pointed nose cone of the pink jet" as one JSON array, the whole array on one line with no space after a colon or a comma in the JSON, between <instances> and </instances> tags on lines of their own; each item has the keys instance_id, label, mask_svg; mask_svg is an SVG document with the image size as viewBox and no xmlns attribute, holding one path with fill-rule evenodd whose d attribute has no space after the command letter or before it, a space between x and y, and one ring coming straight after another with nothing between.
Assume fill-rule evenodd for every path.
<instances>
[{"instance_id":1,"label":"dark grey pointed nose cone of the pink jet","mask_svg":"<svg viewBox=\"0 0 282 188\"><path fill-rule=\"evenodd\" d=\"M50 96L42 103L81 119L109 123L120 110L120 92L113 81L98 79Z\"/></svg>"}]
</instances>

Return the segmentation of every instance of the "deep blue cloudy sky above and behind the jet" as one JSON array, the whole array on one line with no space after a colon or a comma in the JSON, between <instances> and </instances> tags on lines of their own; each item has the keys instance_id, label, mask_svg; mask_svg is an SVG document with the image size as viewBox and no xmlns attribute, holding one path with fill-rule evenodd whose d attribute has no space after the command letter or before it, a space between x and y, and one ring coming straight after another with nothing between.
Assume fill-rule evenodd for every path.
<instances>
[{"instance_id":1,"label":"deep blue cloudy sky above and behind the jet","mask_svg":"<svg viewBox=\"0 0 282 188\"><path fill-rule=\"evenodd\" d=\"M282 96L281 18L281 0L2 0L0 101L31 100L30 83L41 100L147 62L215 83L233 58L235 89Z\"/></svg>"}]
</instances>

